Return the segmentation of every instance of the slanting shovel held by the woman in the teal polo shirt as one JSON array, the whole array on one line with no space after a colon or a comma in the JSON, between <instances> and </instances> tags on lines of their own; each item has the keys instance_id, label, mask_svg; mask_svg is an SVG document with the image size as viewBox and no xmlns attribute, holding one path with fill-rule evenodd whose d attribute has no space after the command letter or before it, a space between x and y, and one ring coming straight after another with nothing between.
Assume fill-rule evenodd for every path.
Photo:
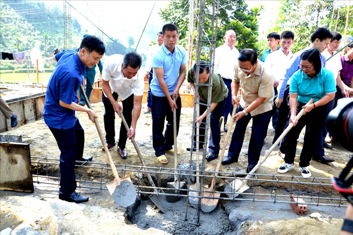
<instances>
[{"instance_id":1,"label":"slanting shovel held by the woman in the teal polo shirt","mask_svg":"<svg viewBox=\"0 0 353 235\"><path fill-rule=\"evenodd\" d=\"M310 105L314 102L313 99L310 99L307 105ZM295 118L295 122L298 121L304 114L304 109L302 109L298 115ZM256 164L253 170L249 172L249 174L245 177L245 180L233 180L230 184L228 184L224 188L224 192L232 199L237 197L239 193L243 193L245 190L249 189L249 186L247 185L247 180L252 177L251 174L254 174L255 171L266 161L270 153L273 151L273 149L278 145L278 143L284 138L284 136L288 133L288 131L293 127L293 123L289 123L287 128L283 131L283 133L278 137L278 139L272 144L272 146L268 149L266 155L264 156L263 159L261 159L260 162Z\"/></svg>"}]
</instances>

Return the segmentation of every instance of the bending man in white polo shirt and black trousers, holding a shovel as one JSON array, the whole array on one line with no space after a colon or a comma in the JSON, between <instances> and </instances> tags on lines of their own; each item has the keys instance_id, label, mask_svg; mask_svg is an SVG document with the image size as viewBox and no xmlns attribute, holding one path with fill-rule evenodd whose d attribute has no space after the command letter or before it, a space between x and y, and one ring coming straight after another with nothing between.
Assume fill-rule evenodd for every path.
<instances>
[{"instance_id":1,"label":"bending man in white polo shirt and black trousers, holding a shovel","mask_svg":"<svg viewBox=\"0 0 353 235\"><path fill-rule=\"evenodd\" d=\"M136 123L141 112L144 74L139 71L140 67L141 56L135 52L127 53L125 56L111 55L103 65L102 101L105 108L104 129L108 149L115 145L115 112L120 117L119 110L123 110L123 115L130 127L131 134L127 132L122 121L119 142L117 143L117 151L122 159L126 159L128 156L125 149L126 140L128 137L129 139L135 138ZM124 109L117 103L118 97L121 98Z\"/></svg>"}]
</instances>

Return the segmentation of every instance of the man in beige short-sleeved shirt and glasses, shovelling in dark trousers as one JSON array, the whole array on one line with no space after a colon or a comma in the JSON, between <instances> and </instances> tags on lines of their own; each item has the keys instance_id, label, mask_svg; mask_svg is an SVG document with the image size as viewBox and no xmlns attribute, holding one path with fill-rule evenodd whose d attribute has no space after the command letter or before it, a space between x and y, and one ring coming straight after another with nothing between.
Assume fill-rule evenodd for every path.
<instances>
[{"instance_id":1,"label":"man in beige short-sleeved shirt and glasses, shovelling in dark trousers","mask_svg":"<svg viewBox=\"0 0 353 235\"><path fill-rule=\"evenodd\" d=\"M239 54L238 61L234 68L234 77L231 83L232 103L233 105L239 105L238 113L233 116L237 125L231 137L228 155L223 159L222 164L228 165L238 162L247 125L253 119L248 149L247 173L249 173L260 158L260 152L272 116L274 91L272 76L265 72L264 64L257 59L255 50L243 49ZM242 87L240 102L237 99L239 86Z\"/></svg>"}]
</instances>

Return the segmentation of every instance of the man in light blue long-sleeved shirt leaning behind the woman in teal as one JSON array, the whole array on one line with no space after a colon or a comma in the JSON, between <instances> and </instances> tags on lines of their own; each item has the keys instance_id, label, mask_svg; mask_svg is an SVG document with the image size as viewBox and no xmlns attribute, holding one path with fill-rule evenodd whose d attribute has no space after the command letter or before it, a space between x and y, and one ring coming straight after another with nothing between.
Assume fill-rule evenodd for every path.
<instances>
[{"instance_id":1,"label":"man in light blue long-sleeved shirt leaning behind the woman in teal","mask_svg":"<svg viewBox=\"0 0 353 235\"><path fill-rule=\"evenodd\" d=\"M283 98L287 98L284 97L284 94L287 96L288 92L284 93L286 90L286 88L288 89L289 85L287 86L287 84L290 84L288 81L290 81L291 76L297 72L300 68L300 61L301 61L301 55L303 54L304 51L309 50L309 49L317 49L320 53L320 59L321 59L321 66L325 67L326 66L326 58L325 56L323 56L321 54L321 52L323 52L328 44L330 43L331 39L333 38L332 33L326 29L326 28L317 28L314 33L311 35L310 39L311 39L311 44L304 48L303 50L298 51L297 53L295 53L293 55L293 57L290 59L288 66L287 66L287 71L284 75L284 79L283 81L281 81L280 83L280 91L278 93L278 97L275 100L275 105L277 108L280 107L280 105L283 102ZM285 101L286 102L286 101ZM289 114L289 110L288 110L288 114ZM288 121L287 121L288 123ZM286 128L286 126L284 127ZM329 163L329 162L333 162L334 160L332 159L328 159L325 157L325 150L322 144L322 132L319 133L318 136L318 140L321 139L321 141L317 141L316 143L316 149L315 149L315 153L313 155L313 160L315 161L319 161L319 162L323 162L323 163ZM284 158L284 154L285 154L285 149L284 149L284 141L285 138L282 139L280 147L279 147L279 154L282 156L282 158Z\"/></svg>"}]
</instances>

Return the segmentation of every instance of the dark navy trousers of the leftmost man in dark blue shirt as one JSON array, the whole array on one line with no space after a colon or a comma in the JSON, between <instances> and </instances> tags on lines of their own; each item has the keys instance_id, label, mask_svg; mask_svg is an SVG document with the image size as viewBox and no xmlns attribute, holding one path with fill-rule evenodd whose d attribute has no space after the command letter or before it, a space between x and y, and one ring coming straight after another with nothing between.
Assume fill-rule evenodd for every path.
<instances>
[{"instance_id":1,"label":"dark navy trousers of the leftmost man in dark blue shirt","mask_svg":"<svg viewBox=\"0 0 353 235\"><path fill-rule=\"evenodd\" d=\"M70 197L76 190L75 161L81 160L85 143L84 130L77 119L70 129L49 127L60 149L59 198Z\"/></svg>"}]
</instances>

